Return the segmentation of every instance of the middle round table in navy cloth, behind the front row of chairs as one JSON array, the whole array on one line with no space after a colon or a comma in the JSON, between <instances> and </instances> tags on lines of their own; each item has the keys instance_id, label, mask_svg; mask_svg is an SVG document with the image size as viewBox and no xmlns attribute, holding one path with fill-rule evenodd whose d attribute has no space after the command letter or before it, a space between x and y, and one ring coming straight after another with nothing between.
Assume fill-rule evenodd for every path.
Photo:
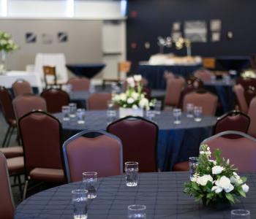
<instances>
[{"instance_id":1,"label":"middle round table in navy cloth, behind the front row of chairs","mask_svg":"<svg viewBox=\"0 0 256 219\"><path fill-rule=\"evenodd\" d=\"M85 129L106 130L108 126L105 110L86 111L84 124L78 124L76 119L63 121L61 113L54 115L62 122L64 139ZM212 126L217 118L203 116L203 120L198 123L193 118L182 115L179 125L175 125L173 120L172 112L162 112L154 118L159 126L157 162L162 171L170 171L174 164L198 155L200 143L211 136Z\"/></svg>"}]
</instances>

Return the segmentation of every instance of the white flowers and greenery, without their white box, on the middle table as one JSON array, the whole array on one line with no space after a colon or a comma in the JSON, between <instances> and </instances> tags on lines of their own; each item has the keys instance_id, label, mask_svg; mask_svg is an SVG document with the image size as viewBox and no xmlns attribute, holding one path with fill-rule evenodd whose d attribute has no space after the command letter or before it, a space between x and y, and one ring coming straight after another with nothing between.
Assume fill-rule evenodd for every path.
<instances>
[{"instance_id":1,"label":"white flowers and greenery, without their white box, on the middle table","mask_svg":"<svg viewBox=\"0 0 256 219\"><path fill-rule=\"evenodd\" d=\"M143 87L140 85L141 75L134 75L127 78L127 91L125 93L114 94L112 100L119 107L132 108L134 110L149 110L154 106L154 101L146 99Z\"/></svg>"}]
</instances>

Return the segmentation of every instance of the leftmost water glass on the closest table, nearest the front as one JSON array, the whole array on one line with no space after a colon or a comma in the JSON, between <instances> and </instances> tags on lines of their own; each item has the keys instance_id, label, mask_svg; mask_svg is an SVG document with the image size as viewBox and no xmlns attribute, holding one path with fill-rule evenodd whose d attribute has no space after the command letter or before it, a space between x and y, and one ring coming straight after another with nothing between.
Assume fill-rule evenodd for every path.
<instances>
[{"instance_id":1,"label":"leftmost water glass on the closest table, nearest the front","mask_svg":"<svg viewBox=\"0 0 256 219\"><path fill-rule=\"evenodd\" d=\"M87 218L87 193L85 189L72 190L72 204L74 207L74 219Z\"/></svg>"}]
</instances>

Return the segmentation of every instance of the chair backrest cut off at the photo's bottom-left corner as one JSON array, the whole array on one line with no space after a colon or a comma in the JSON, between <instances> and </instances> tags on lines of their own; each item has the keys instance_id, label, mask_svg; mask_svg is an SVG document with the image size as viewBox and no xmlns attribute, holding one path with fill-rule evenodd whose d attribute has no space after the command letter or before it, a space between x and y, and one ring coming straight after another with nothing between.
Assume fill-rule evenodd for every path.
<instances>
[{"instance_id":1,"label":"chair backrest cut off at the photo's bottom-left corner","mask_svg":"<svg viewBox=\"0 0 256 219\"><path fill-rule=\"evenodd\" d=\"M4 154L0 152L0 218L12 219L15 206L10 188L7 161Z\"/></svg>"}]
</instances>

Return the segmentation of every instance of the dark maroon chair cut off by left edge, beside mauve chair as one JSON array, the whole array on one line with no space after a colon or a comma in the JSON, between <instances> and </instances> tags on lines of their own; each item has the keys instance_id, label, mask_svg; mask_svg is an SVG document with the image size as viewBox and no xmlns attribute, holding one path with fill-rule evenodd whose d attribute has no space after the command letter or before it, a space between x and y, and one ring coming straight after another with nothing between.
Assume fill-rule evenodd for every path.
<instances>
[{"instance_id":1,"label":"dark maroon chair cut off by left edge, beside mauve chair","mask_svg":"<svg viewBox=\"0 0 256 219\"><path fill-rule=\"evenodd\" d=\"M15 114L12 107L12 96L10 95L7 88L0 86L0 104L1 111L4 115L4 120L8 124L7 133L4 136L2 142L2 147L7 147L10 145L10 139L12 137L13 131L17 128Z\"/></svg>"}]
</instances>

